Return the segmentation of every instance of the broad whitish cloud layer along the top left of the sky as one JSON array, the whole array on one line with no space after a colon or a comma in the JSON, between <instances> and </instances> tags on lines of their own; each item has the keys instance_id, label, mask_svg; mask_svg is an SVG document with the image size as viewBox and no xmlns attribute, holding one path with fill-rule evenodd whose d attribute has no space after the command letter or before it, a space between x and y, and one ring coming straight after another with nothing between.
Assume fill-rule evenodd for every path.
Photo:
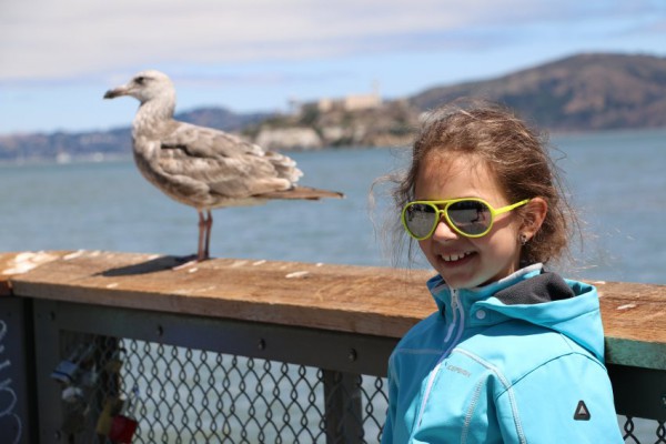
<instances>
[{"instance_id":1,"label":"broad whitish cloud layer along the top left of the sky","mask_svg":"<svg viewBox=\"0 0 666 444\"><path fill-rule=\"evenodd\" d=\"M445 39L447 32L502 22L513 26L542 20L547 17L544 12L567 16L581 9L578 0L547 3L545 10L546 3L531 0L4 0L0 81L70 78L160 63L303 60L418 50L427 44L443 48L455 44Z\"/></svg>"}]
</instances>

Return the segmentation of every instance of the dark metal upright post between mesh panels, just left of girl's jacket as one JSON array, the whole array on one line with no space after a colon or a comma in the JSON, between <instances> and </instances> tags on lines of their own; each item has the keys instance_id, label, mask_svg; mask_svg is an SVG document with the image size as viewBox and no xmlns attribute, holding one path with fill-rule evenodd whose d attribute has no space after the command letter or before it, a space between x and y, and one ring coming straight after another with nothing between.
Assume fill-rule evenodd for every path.
<instances>
[{"instance_id":1,"label":"dark metal upright post between mesh panels, just left of girl's jacket","mask_svg":"<svg viewBox=\"0 0 666 444\"><path fill-rule=\"evenodd\" d=\"M322 370L326 443L362 443L361 376Z\"/></svg>"}]
</instances>

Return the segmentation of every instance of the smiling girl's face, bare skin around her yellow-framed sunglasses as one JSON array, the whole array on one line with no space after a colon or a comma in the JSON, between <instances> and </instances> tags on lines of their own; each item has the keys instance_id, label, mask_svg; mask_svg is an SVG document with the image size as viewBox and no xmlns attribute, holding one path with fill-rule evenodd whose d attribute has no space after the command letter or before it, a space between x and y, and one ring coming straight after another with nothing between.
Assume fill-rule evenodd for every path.
<instances>
[{"instance_id":1,"label":"smiling girl's face, bare skin around her yellow-framed sunglasses","mask_svg":"<svg viewBox=\"0 0 666 444\"><path fill-rule=\"evenodd\" d=\"M472 155L430 153L421 163L414 185L416 200L482 198L494 208L508 202L494 173ZM521 221L515 211L495 219L483 238L465 238L452 230L444 218L433 235L418 241L431 265L453 289L471 289L518 270Z\"/></svg>"}]
</instances>

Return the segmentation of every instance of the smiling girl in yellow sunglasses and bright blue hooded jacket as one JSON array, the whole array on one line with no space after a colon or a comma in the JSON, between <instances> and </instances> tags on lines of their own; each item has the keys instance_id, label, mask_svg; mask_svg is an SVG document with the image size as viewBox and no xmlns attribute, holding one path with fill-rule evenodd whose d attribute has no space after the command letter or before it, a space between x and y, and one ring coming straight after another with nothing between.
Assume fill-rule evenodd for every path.
<instances>
[{"instance_id":1,"label":"smiling girl in yellow sunglasses and bright blue hooded jacket","mask_svg":"<svg viewBox=\"0 0 666 444\"><path fill-rule=\"evenodd\" d=\"M391 356L382 442L622 443L596 290L543 265L575 216L538 137L494 104L438 110L394 198L438 311Z\"/></svg>"}]
</instances>

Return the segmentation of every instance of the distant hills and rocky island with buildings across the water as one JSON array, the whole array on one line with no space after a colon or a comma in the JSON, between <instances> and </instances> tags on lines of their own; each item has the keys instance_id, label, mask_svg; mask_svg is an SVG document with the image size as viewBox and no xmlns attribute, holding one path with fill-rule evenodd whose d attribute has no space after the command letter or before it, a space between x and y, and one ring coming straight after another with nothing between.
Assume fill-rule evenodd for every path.
<instances>
[{"instance_id":1,"label":"distant hills and rocky island with buildings across the water","mask_svg":"<svg viewBox=\"0 0 666 444\"><path fill-rule=\"evenodd\" d=\"M539 127L583 132L666 127L666 58L586 53L496 79L428 88L383 100L377 94L301 103L284 114L239 114L224 108L176 114L238 133L266 149L396 147L411 142L423 112L458 97L505 103ZM131 129L0 135L0 162L128 157Z\"/></svg>"}]
</instances>

